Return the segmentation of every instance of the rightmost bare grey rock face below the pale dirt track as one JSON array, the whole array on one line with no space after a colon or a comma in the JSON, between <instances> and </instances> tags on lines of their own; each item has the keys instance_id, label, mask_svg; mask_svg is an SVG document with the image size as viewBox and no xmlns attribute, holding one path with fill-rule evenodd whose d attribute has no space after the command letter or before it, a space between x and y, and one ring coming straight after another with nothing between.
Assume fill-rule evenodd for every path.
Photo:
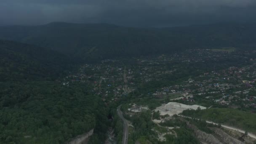
<instances>
[{"instance_id":1,"label":"rightmost bare grey rock face below the pale dirt track","mask_svg":"<svg viewBox=\"0 0 256 144\"><path fill-rule=\"evenodd\" d=\"M244 142L239 141L238 139L235 139L232 136L229 136L227 133L225 133L219 128L211 128L211 130L213 130L214 133L216 133L219 136L219 138L227 144L245 144Z\"/></svg>"}]
</instances>

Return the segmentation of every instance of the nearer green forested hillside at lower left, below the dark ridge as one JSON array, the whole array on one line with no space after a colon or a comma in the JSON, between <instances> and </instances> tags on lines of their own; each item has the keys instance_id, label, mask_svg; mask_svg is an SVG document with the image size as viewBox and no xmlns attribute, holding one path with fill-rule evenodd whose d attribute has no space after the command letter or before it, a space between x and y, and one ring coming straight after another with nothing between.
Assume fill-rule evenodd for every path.
<instances>
[{"instance_id":1,"label":"nearer green forested hillside at lower left, below the dark ridge","mask_svg":"<svg viewBox=\"0 0 256 144\"><path fill-rule=\"evenodd\" d=\"M86 88L51 81L0 86L1 144L63 144L107 119L103 101Z\"/></svg>"}]
</instances>

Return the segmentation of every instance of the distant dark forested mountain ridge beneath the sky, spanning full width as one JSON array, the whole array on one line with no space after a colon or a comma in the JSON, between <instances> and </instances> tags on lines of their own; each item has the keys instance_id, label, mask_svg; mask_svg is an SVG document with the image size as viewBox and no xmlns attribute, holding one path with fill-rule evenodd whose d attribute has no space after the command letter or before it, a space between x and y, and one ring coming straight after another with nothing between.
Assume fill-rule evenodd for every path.
<instances>
[{"instance_id":1,"label":"distant dark forested mountain ridge beneath the sky, spanning full width","mask_svg":"<svg viewBox=\"0 0 256 144\"><path fill-rule=\"evenodd\" d=\"M172 53L187 48L251 48L256 46L256 26L226 23L157 29L55 22L0 27L0 38L52 48L93 61Z\"/></svg>"}]
</instances>

